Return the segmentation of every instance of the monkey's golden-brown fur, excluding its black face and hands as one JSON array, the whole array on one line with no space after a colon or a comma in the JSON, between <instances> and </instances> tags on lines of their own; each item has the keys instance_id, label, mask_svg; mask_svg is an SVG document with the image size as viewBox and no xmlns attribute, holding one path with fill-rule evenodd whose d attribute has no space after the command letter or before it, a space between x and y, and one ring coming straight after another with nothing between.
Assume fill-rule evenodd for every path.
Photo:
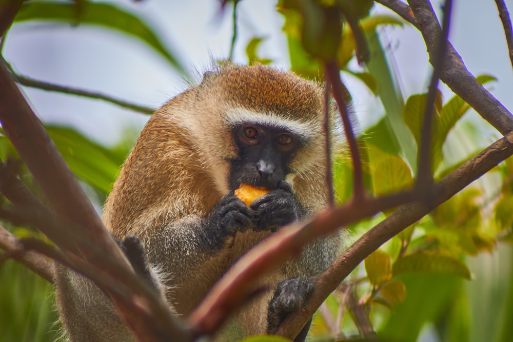
<instances>
[{"instance_id":1,"label":"monkey's golden-brown fur, excluding its black face and hands","mask_svg":"<svg viewBox=\"0 0 513 342\"><path fill-rule=\"evenodd\" d=\"M225 113L242 108L310 124L314 138L295 155L287 181L300 204L314 214L326 206L322 104L322 89L315 83L264 66L229 65L205 74L199 86L171 99L150 118L107 199L103 219L117 237L135 235L142 240L151 263L168 274L165 295L177 314L190 314L227 268L269 234L238 233L232 247L212 254L198 248L193 228L184 228L193 227L229 191L229 160L237 149ZM339 243L338 235L312 243L302 257L268 275L262 284L273 288L286 278L317 276L334 259ZM117 331L103 313L88 312L102 308L91 300L102 300L84 294L69 298L74 286L70 284L78 280L61 279L57 294L68 330L92 319L90 326ZM235 317L224 338L265 333L270 297L271 292ZM69 301L82 302L86 315L71 312ZM68 313L75 317L66 317ZM96 315L100 318L94 319ZM123 326L119 317L111 321L117 328ZM77 340L103 340L94 338Z\"/></svg>"}]
</instances>

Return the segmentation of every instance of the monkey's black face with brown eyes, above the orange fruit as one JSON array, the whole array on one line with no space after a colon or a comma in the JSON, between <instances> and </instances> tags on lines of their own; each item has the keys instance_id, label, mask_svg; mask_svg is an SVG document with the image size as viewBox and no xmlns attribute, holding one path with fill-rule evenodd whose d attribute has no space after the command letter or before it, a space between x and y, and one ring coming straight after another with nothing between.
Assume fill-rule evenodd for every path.
<instances>
[{"instance_id":1,"label":"monkey's black face with brown eyes, above the orange fruit","mask_svg":"<svg viewBox=\"0 0 513 342\"><path fill-rule=\"evenodd\" d=\"M230 189L242 183L277 189L289 173L290 159L301 144L299 138L289 131L257 124L236 126L233 136L239 155L231 162Z\"/></svg>"}]
</instances>

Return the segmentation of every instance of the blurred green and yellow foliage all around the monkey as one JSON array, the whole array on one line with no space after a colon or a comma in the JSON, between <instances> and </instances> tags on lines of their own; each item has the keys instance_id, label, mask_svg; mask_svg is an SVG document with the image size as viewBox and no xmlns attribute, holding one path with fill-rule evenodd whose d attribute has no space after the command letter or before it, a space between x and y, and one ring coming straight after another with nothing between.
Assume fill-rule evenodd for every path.
<instances>
[{"instance_id":1,"label":"blurred green and yellow foliage all around the monkey","mask_svg":"<svg viewBox=\"0 0 513 342\"><path fill-rule=\"evenodd\" d=\"M27 2L15 22L48 21L115 30L139 39L174 68L184 70L141 14L106 3L85 0L77 3L80 6L63 2ZM307 78L322 79L324 70L320 59L333 59L343 72L358 77L379 97L383 105L381 118L376 125L365 130L359 144L367 192L385 195L413 186L418 172L417 147L427 94L411 95L404 100L398 76L390 66L376 30L383 25L402 27L406 24L393 16L370 15L372 3L367 0L282 0L278 10L285 18L283 31L292 71ZM333 12L332 8L339 8L340 12ZM348 15L360 19L361 30L367 37L372 58L365 66L355 67L351 63L357 54L358 37L349 25L341 24ZM254 37L247 44L249 63L272 62L269 58L260 57L265 55L265 51L260 51L264 39ZM477 79L481 84L495 81L490 75L478 76ZM435 176L439 179L464 161L448 160L444 146L470 106L459 96L443 103L439 93L433 110L431 160ZM129 147L125 144L102 146L71 128L46 128L71 170L99 198L104 198ZM477 147L473 146L472 150L477 150ZM4 136L0 136L0 157L2 160L17 158L17 153ZM346 159L338 156L333 168L339 203L349 200L352 193L352 165ZM440 170L442 165L445 170ZM22 166L19 174L37 193L26 168ZM333 334L333 329L342 331L345 336L360 336L361 322L357 313L364 312L383 341L414 341L426 327L434 330L439 340L471 340L470 336L478 330L479 322L469 314L469 307L475 305L479 298L468 294L468 284L484 274L472 274L468 263L474 260L470 256L497 253L499 244L510 245L513 242L512 175L513 161L508 159L496 168L494 175L486 176L495 177L496 189L490 190L482 184L472 185L373 252L351 274L350 285L341 286L333 293L326 301L327 310L315 316L314 337ZM389 210L352 225L349 227L351 238L363 234L392 212ZM9 229L18 236L34 234L15 227ZM508 250L506 255L510 256L511 252ZM507 272L507 285L501 292L504 294L504 307L498 310L499 305L491 305L500 323L497 331L487 335L504 341L511 336L507 318L513 314L513 281L510 281L513 269ZM12 261L0 264L0 278L3 279L0 282L0 313L12 317L0 319L0 330L6 340L53 340L55 335L49 324L54 321L55 314L48 300L44 299L50 295L51 287ZM333 322L338 326L333 327ZM286 339L266 335L244 341L283 340Z\"/></svg>"}]
</instances>

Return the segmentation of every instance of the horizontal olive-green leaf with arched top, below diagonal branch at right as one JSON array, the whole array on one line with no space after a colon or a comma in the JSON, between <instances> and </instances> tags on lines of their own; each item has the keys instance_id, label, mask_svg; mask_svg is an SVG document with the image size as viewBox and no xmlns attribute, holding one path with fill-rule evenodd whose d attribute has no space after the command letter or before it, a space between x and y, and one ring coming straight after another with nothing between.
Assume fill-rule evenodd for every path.
<instances>
[{"instance_id":1,"label":"horizontal olive-green leaf with arched top, below diagonal branch at right","mask_svg":"<svg viewBox=\"0 0 513 342\"><path fill-rule=\"evenodd\" d=\"M470 270L459 259L429 253L415 253L403 256L398 259L392 267L392 274L398 275L401 273L435 273L446 274L470 279Z\"/></svg>"}]
</instances>

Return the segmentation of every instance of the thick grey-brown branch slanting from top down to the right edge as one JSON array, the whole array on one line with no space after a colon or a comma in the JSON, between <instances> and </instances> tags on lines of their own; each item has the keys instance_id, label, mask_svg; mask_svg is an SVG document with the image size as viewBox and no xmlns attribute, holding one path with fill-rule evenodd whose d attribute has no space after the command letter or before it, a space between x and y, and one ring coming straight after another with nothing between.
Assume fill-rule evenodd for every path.
<instances>
[{"instance_id":1,"label":"thick grey-brown branch slanting from top down to the right edge","mask_svg":"<svg viewBox=\"0 0 513 342\"><path fill-rule=\"evenodd\" d=\"M435 57L440 25L431 4L426 0L410 0L411 9L405 8L399 0L379 0L379 2L408 20L410 11L415 15L416 27L421 31L430 60ZM396 11L397 9L397 11ZM408 11L408 12L407 12ZM409 21L409 20L408 20ZM411 21L409 21L411 22ZM453 46L448 43L448 53L440 79L453 92L475 109L487 122L502 134L513 130L513 115L492 96L467 70L463 60Z\"/></svg>"}]
</instances>

